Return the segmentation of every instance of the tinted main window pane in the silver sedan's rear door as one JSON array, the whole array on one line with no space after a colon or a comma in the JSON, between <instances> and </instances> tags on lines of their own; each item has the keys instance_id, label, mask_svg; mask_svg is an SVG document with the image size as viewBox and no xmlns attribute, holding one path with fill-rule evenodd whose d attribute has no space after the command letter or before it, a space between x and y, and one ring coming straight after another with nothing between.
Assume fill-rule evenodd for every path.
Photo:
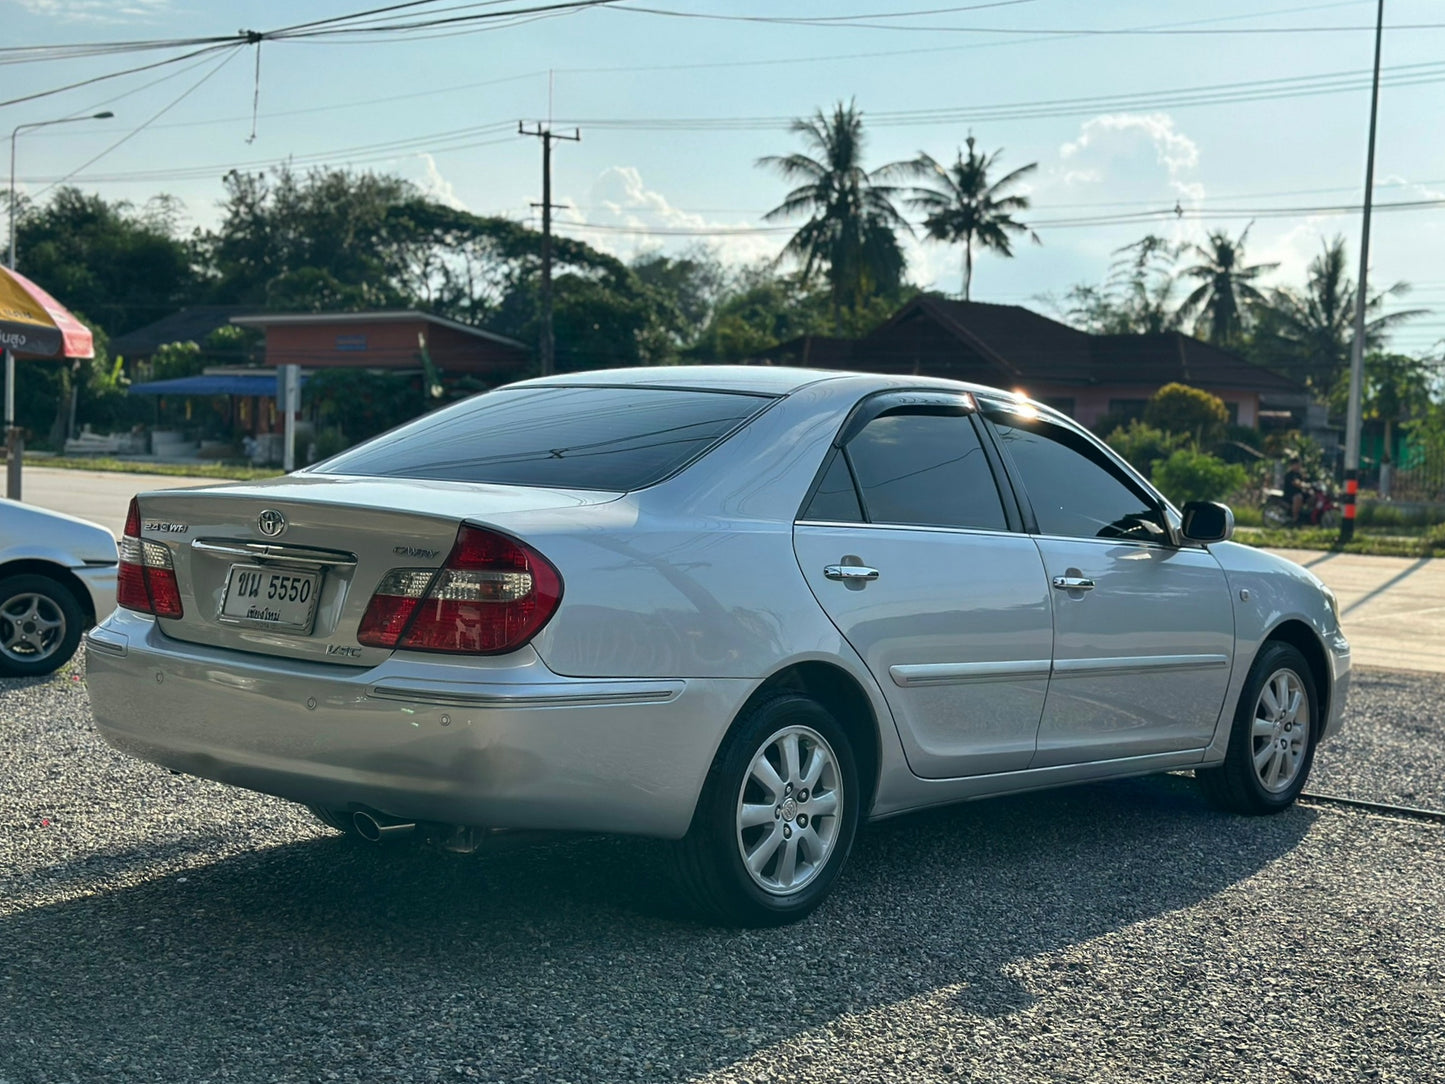
<instances>
[{"instance_id":1,"label":"tinted main window pane in the silver sedan's rear door","mask_svg":"<svg viewBox=\"0 0 1445 1084\"><path fill-rule=\"evenodd\" d=\"M870 523L1007 530L993 470L967 413L886 413L844 451Z\"/></svg>"}]
</instances>

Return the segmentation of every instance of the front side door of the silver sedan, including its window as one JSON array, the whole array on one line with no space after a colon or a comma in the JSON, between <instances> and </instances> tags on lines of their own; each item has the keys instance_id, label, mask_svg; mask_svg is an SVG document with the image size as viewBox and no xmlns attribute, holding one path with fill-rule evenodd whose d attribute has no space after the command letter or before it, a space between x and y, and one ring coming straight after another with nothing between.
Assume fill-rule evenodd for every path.
<instances>
[{"instance_id":1,"label":"front side door of the silver sedan, including its window","mask_svg":"<svg viewBox=\"0 0 1445 1084\"><path fill-rule=\"evenodd\" d=\"M1208 549L1085 434L988 410L1022 483L1053 598L1053 676L1032 766L1204 749L1224 704L1234 610Z\"/></svg>"}]
</instances>

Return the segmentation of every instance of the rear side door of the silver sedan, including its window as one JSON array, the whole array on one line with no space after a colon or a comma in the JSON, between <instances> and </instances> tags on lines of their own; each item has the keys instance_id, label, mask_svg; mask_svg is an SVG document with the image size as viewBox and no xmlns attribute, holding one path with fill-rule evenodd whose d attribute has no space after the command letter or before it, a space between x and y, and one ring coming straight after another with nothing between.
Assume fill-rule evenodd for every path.
<instances>
[{"instance_id":1,"label":"rear side door of the silver sedan, including its window","mask_svg":"<svg viewBox=\"0 0 1445 1084\"><path fill-rule=\"evenodd\" d=\"M974 402L889 395L848 422L793 530L925 778L1027 766L1049 681L1043 562L1016 530Z\"/></svg>"}]
</instances>

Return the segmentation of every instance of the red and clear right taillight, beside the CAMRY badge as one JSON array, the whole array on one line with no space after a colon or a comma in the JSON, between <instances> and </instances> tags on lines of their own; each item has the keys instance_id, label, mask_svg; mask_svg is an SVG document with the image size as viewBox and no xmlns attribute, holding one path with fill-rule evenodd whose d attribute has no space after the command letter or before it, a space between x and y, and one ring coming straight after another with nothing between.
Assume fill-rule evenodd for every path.
<instances>
[{"instance_id":1,"label":"red and clear right taillight, beside the CAMRY badge","mask_svg":"<svg viewBox=\"0 0 1445 1084\"><path fill-rule=\"evenodd\" d=\"M441 568L381 577L357 639L370 648L503 655L536 636L561 600L562 577L538 551L464 523Z\"/></svg>"}]
</instances>

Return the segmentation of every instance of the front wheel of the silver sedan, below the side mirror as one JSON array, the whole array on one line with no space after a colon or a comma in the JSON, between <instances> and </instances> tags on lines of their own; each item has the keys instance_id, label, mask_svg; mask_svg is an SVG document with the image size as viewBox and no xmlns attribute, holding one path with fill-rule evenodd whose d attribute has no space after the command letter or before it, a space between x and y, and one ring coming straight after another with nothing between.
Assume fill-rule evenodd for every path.
<instances>
[{"instance_id":1,"label":"front wheel of the silver sedan, below the side mirror","mask_svg":"<svg viewBox=\"0 0 1445 1084\"><path fill-rule=\"evenodd\" d=\"M1293 805L1315 762L1319 701L1298 648L1270 642L1254 659L1224 763L1195 772L1205 798L1228 812L1273 814Z\"/></svg>"}]
</instances>

